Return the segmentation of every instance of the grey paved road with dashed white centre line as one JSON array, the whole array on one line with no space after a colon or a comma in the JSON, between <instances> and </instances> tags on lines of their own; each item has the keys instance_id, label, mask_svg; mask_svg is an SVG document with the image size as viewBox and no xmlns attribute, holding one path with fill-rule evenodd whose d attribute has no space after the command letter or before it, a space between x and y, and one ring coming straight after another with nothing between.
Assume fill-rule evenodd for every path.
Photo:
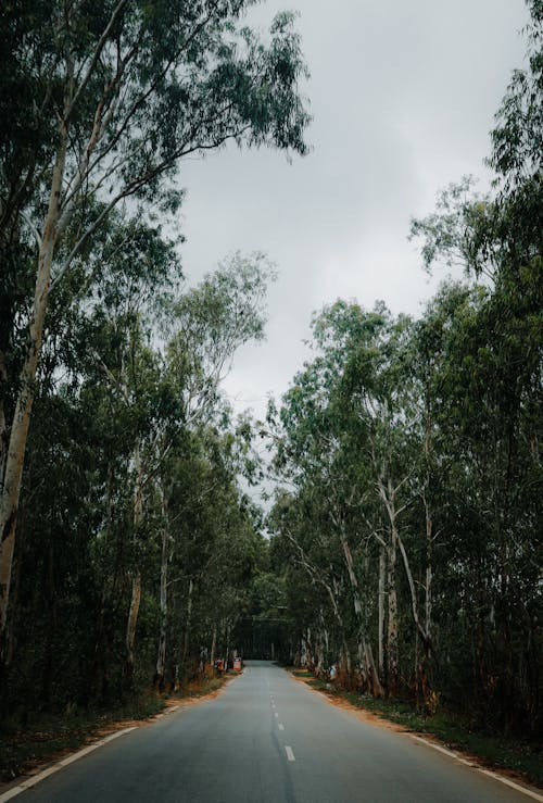
<instances>
[{"instance_id":1,"label":"grey paved road with dashed white centre line","mask_svg":"<svg viewBox=\"0 0 543 803\"><path fill-rule=\"evenodd\" d=\"M99 748L17 803L496 803L530 799L366 725L267 662Z\"/></svg>"}]
</instances>

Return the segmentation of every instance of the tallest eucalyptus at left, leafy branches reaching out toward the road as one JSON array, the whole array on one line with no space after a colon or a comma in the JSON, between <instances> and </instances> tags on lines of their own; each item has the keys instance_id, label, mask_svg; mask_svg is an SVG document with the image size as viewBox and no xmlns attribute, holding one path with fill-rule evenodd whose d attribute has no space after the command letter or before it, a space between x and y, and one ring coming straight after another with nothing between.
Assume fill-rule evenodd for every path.
<instances>
[{"instance_id":1,"label":"tallest eucalyptus at left, leafy branches reaching out toward the road","mask_svg":"<svg viewBox=\"0 0 543 803\"><path fill-rule=\"evenodd\" d=\"M265 42L240 27L251 4L113 0L91 8L54 2L48 4L51 36L43 36L41 3L33 4L37 13L25 14L24 24L12 7L3 9L9 36L2 71L13 78L13 91L20 78L28 89L20 98L30 110L33 135L20 136L22 115L10 116L13 137L1 152L1 218L8 233L2 241L14 229L18 240L35 240L36 278L11 426L5 416L3 422L10 437L0 505L2 630L51 293L124 199L163 211L176 209L180 195L174 179L184 158L228 140L306 150L308 115L299 92L305 67L293 16L278 15ZM38 148L28 147L33 138ZM88 202L96 199L100 213L88 218ZM63 239L65 253L59 259ZM10 283L2 292L9 294ZM4 399L5 392L1 396ZM2 443L7 440L2 432Z\"/></svg>"}]
</instances>

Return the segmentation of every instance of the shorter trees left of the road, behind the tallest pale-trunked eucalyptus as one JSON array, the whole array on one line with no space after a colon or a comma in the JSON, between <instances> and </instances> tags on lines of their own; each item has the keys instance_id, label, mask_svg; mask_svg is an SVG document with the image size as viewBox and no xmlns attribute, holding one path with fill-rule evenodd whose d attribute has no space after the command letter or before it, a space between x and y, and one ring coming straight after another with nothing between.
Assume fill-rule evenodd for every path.
<instances>
[{"instance_id":1,"label":"shorter trees left of the road, behind the tallest pale-trunked eucalyptus","mask_svg":"<svg viewBox=\"0 0 543 803\"><path fill-rule=\"evenodd\" d=\"M45 341L7 629L10 695L26 704L178 688L236 648L266 568L239 486L254 475L250 423L232 419L219 379L262 334L268 268L236 256L171 298L130 235L92 297L77 293L64 346ZM149 265L160 273L156 252ZM148 308L159 301L164 316Z\"/></svg>"}]
</instances>

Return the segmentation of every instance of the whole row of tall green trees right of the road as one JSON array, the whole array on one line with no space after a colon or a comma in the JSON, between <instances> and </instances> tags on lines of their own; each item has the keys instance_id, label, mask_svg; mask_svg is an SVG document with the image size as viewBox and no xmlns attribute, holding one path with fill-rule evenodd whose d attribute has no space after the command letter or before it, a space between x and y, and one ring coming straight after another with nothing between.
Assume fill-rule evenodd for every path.
<instances>
[{"instance_id":1,"label":"whole row of tall green trees right of the road","mask_svg":"<svg viewBox=\"0 0 543 803\"><path fill-rule=\"evenodd\" d=\"M325 308L268 416L292 660L525 735L542 725L543 3L530 8L493 196L464 179L413 222L426 266L462 264L465 280L416 322Z\"/></svg>"}]
</instances>

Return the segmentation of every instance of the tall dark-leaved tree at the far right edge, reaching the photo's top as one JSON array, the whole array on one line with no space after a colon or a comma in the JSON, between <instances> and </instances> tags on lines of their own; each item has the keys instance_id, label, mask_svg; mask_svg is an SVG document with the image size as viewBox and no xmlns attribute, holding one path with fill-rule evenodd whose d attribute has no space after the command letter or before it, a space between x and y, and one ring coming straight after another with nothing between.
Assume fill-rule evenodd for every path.
<instances>
[{"instance_id":1,"label":"tall dark-leaved tree at the far right edge, reaching the photo's top","mask_svg":"<svg viewBox=\"0 0 543 803\"><path fill-rule=\"evenodd\" d=\"M464 183L413 224L427 266L457 259L473 285L464 298L443 293L428 318L444 324L434 387L450 413L437 417L454 505L441 515L458 550L447 573L463 600L458 651L476 655L469 679L463 667L465 683L475 685L487 714L508 727L538 720L533 667L541 649L533 623L540 604L543 4L528 5L527 66L514 72L492 131L493 193L477 197Z\"/></svg>"}]
</instances>

